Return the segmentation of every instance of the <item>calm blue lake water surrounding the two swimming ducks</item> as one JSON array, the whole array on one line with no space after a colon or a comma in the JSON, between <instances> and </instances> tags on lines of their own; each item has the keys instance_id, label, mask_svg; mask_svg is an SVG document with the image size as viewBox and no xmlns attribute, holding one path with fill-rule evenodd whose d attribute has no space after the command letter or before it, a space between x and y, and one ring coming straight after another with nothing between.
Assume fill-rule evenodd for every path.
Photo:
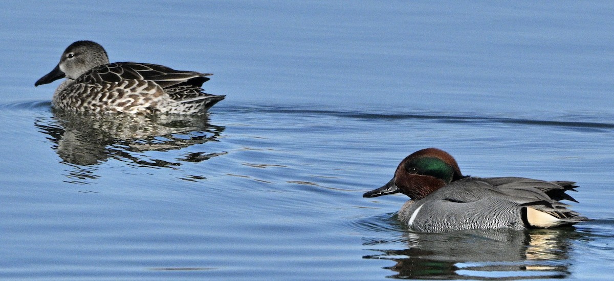
<instances>
[{"instance_id":1,"label":"calm blue lake water surrounding the two swimming ducks","mask_svg":"<svg viewBox=\"0 0 614 281\"><path fill-rule=\"evenodd\" d=\"M0 279L611 280L612 2L0 4ZM215 73L208 116L75 117L75 40ZM418 149L577 181L575 228L416 234Z\"/></svg>"}]
</instances>

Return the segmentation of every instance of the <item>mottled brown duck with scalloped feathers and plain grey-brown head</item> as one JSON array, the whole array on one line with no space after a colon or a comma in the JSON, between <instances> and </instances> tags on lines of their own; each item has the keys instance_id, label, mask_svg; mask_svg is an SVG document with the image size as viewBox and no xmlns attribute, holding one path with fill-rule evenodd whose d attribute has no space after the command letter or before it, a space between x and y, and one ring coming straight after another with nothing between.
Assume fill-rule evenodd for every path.
<instances>
[{"instance_id":1,"label":"mottled brown duck with scalloped feathers and plain grey-brown head","mask_svg":"<svg viewBox=\"0 0 614 281\"><path fill-rule=\"evenodd\" d=\"M52 107L87 113L204 114L225 96L203 92L211 73L174 70L158 64L109 63L96 42L69 45L58 65L34 86L66 78L55 90Z\"/></svg>"}]
</instances>

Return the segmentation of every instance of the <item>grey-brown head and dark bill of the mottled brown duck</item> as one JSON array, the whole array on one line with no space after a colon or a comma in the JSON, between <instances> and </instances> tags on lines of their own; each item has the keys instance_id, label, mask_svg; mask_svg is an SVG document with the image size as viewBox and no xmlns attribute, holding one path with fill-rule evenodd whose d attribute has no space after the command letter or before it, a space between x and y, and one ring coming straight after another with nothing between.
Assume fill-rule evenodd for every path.
<instances>
[{"instance_id":1,"label":"grey-brown head and dark bill of the mottled brown duck","mask_svg":"<svg viewBox=\"0 0 614 281\"><path fill-rule=\"evenodd\" d=\"M77 79L88 70L108 63L109 56L100 44L92 41L77 41L66 48L55 69L36 81L34 86L51 83L64 77Z\"/></svg>"}]
</instances>

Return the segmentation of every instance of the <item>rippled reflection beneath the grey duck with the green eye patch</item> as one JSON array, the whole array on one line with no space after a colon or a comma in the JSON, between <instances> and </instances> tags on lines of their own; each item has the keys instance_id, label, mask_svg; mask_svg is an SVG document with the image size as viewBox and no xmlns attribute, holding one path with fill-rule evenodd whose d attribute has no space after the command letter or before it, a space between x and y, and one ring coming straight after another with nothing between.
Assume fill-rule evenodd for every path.
<instances>
[{"instance_id":1,"label":"rippled reflection beneath the grey duck with the green eye patch","mask_svg":"<svg viewBox=\"0 0 614 281\"><path fill-rule=\"evenodd\" d=\"M395 261L387 269L398 279L561 279L570 275L567 253L575 235L571 228L406 233L407 249L378 249L381 254L364 258Z\"/></svg>"}]
</instances>

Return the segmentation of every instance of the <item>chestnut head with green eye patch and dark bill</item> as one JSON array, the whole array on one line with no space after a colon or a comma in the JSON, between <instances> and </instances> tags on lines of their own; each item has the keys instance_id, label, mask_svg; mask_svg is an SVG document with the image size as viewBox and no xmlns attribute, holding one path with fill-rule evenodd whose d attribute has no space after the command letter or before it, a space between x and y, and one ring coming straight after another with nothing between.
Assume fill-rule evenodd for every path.
<instances>
[{"instance_id":1,"label":"chestnut head with green eye patch and dark bill","mask_svg":"<svg viewBox=\"0 0 614 281\"><path fill-rule=\"evenodd\" d=\"M464 178L452 155L441 149L426 148L405 157L394 177L383 187L371 190L362 197L378 197L403 193L413 200L421 200L450 182Z\"/></svg>"}]
</instances>

